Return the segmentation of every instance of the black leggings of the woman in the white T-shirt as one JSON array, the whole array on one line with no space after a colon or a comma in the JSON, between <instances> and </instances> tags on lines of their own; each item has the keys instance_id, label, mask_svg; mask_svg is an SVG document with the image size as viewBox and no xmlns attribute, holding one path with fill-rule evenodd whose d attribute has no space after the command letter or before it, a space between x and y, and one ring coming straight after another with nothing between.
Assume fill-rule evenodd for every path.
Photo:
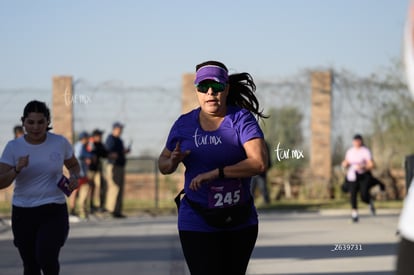
<instances>
[{"instance_id":1,"label":"black leggings of the woman in the white T-shirt","mask_svg":"<svg viewBox=\"0 0 414 275\"><path fill-rule=\"evenodd\" d=\"M13 206L12 230L24 275L59 274L59 252L69 233L66 204Z\"/></svg>"}]
</instances>

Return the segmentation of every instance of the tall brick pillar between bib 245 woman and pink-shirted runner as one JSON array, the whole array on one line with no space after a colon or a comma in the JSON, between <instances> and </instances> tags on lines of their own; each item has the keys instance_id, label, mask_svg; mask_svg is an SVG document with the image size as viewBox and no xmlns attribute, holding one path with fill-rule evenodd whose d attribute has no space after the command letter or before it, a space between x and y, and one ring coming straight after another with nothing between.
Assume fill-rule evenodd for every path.
<instances>
[{"instance_id":1,"label":"tall brick pillar between bib 245 woman and pink-shirted runner","mask_svg":"<svg viewBox=\"0 0 414 275\"><path fill-rule=\"evenodd\" d=\"M326 192L329 190L332 175L332 73L330 71L313 72L311 85L310 168L313 183L312 193L315 193L316 197L327 197Z\"/></svg>"}]
</instances>

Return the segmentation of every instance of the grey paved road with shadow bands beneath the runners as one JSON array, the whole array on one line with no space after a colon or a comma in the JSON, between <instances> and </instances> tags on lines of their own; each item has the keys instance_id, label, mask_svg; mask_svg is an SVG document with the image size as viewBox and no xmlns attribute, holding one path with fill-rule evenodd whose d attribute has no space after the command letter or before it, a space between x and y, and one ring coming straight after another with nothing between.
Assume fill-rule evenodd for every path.
<instances>
[{"instance_id":1,"label":"grey paved road with shadow bands beneath the runners","mask_svg":"<svg viewBox=\"0 0 414 275\"><path fill-rule=\"evenodd\" d=\"M391 275L398 211L260 213L248 273L286 275ZM0 274L21 275L21 261L7 223L0 222ZM130 217L72 223L61 253L61 275L188 275L176 217Z\"/></svg>"}]
</instances>

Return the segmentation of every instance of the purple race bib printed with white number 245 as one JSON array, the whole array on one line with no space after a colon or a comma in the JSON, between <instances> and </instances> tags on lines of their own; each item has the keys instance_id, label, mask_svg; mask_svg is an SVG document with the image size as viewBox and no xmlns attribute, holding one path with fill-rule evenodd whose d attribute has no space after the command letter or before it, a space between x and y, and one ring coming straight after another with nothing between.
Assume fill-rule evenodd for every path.
<instances>
[{"instance_id":1,"label":"purple race bib printed with white number 245","mask_svg":"<svg viewBox=\"0 0 414 275\"><path fill-rule=\"evenodd\" d=\"M208 208L224 208L244 201L240 180L228 180L219 186L210 186L208 192Z\"/></svg>"}]
</instances>

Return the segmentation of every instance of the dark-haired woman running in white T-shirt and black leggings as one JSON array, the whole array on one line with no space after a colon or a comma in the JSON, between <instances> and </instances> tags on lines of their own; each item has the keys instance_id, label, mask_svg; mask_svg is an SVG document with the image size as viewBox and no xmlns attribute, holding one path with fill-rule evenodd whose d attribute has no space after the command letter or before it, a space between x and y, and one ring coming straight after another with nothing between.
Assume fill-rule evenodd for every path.
<instances>
[{"instance_id":1,"label":"dark-haired woman running in white T-shirt and black leggings","mask_svg":"<svg viewBox=\"0 0 414 275\"><path fill-rule=\"evenodd\" d=\"M31 101L23 110L25 135L10 141L0 158L0 189L13 182L12 230L24 274L59 274L59 252L69 233L68 209L59 182L69 194L77 187L79 164L72 146L49 133L50 111ZM63 178L63 166L70 179Z\"/></svg>"}]
</instances>

